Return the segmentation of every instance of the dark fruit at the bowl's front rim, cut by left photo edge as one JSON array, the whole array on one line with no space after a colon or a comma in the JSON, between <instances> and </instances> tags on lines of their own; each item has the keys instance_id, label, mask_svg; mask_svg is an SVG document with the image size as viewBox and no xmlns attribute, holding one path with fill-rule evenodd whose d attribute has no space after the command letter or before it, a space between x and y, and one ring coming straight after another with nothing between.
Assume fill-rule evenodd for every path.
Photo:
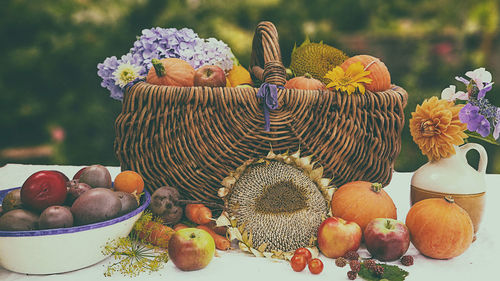
<instances>
[{"instance_id":1,"label":"dark fruit at the bowl's front rim, cut by left photo edge","mask_svg":"<svg viewBox=\"0 0 500 281\"><path fill-rule=\"evenodd\" d=\"M0 217L0 230L24 231L38 229L39 216L31 211L15 209Z\"/></svg>"}]
</instances>

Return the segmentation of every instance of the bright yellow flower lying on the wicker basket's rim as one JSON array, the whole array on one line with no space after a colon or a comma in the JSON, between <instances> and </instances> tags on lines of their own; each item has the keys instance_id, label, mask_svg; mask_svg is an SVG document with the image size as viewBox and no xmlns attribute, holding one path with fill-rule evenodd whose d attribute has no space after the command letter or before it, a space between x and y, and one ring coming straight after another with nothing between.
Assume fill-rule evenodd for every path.
<instances>
[{"instance_id":1,"label":"bright yellow flower lying on the wicker basket's rim","mask_svg":"<svg viewBox=\"0 0 500 281\"><path fill-rule=\"evenodd\" d=\"M336 66L325 75L325 78L331 81L326 87L333 88L340 92L347 92L349 95L358 89L361 94L364 94L364 84L370 84L372 82L371 78L365 77L369 74L370 71L365 70L363 64L360 62L349 65L345 72L342 67Z\"/></svg>"}]
</instances>

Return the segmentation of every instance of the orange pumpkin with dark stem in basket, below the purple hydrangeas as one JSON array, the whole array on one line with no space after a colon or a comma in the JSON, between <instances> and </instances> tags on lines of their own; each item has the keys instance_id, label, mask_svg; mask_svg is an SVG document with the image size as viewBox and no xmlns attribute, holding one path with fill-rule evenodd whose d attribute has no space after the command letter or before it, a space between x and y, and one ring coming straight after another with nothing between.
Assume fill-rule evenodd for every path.
<instances>
[{"instance_id":1,"label":"orange pumpkin with dark stem in basket, below the purple hydrangeas","mask_svg":"<svg viewBox=\"0 0 500 281\"><path fill-rule=\"evenodd\" d=\"M194 85L194 68L178 58L153 59L146 82L154 85L191 87Z\"/></svg>"}]
</instances>

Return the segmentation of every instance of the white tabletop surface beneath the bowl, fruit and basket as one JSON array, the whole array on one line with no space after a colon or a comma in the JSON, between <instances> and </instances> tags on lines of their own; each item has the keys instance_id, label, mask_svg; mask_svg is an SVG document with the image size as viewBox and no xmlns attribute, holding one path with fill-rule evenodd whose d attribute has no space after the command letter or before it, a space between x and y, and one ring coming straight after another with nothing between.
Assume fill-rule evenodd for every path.
<instances>
[{"instance_id":1,"label":"white tabletop surface beneath the bowl, fruit and basket","mask_svg":"<svg viewBox=\"0 0 500 281\"><path fill-rule=\"evenodd\" d=\"M0 189L21 186L32 173L40 170L58 170L68 177L83 166L43 166L8 164L0 168ZM119 167L108 167L114 178ZM385 190L393 198L398 209L398 219L404 221L410 209L410 179L412 173L395 173L392 182ZM409 255L415 258L415 264L404 267L410 275L406 280L500 280L498 271L500 254L500 175L487 175L487 196L483 221L477 234L477 240L459 257L450 260L426 258L410 246ZM35 249L34 249L35 250ZM368 252L361 247L361 255ZM77 254L77 253L75 253ZM307 268L294 272L287 262L255 258L239 250L218 251L218 257L204 269L194 272L182 272L172 262L165 264L159 272L142 273L135 280L348 280L348 266L336 267L333 259L320 256L325 268L319 275L312 275ZM0 267L0 280L128 280L119 273L104 277L105 266L111 260L64 274L26 275L7 271ZM399 264L399 262L394 262ZM495 270L493 270L495 269ZM363 280L358 277L356 280Z\"/></svg>"}]
</instances>

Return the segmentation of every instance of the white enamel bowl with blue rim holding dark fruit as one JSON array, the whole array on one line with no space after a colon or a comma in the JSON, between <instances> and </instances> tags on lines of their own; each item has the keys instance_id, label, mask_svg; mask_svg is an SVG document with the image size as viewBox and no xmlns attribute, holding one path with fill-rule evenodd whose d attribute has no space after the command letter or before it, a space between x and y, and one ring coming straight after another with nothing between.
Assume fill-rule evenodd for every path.
<instances>
[{"instance_id":1,"label":"white enamel bowl with blue rim holding dark fruit","mask_svg":"<svg viewBox=\"0 0 500 281\"><path fill-rule=\"evenodd\" d=\"M16 188L0 191L0 202ZM0 231L0 266L27 274L52 274L84 268L105 259L108 241L126 237L149 205L147 191L141 205L123 216L82 226L33 231Z\"/></svg>"}]
</instances>

